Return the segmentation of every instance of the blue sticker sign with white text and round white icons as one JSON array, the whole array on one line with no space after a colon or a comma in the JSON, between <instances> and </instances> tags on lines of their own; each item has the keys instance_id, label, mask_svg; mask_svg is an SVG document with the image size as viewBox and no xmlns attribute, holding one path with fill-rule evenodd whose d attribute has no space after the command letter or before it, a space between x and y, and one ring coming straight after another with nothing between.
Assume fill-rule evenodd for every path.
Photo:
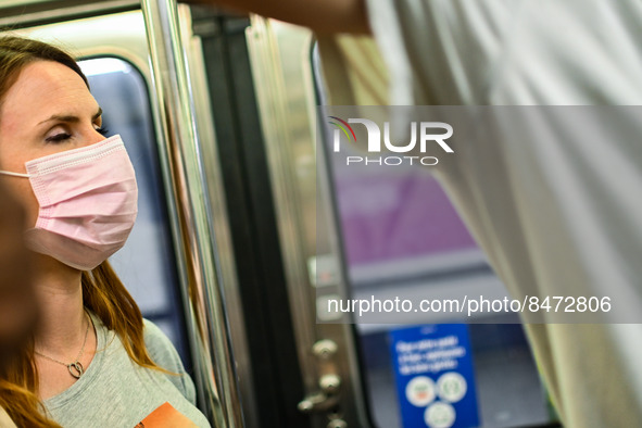
<instances>
[{"instance_id":1,"label":"blue sticker sign with white text and round white icons","mask_svg":"<svg viewBox=\"0 0 642 428\"><path fill-rule=\"evenodd\" d=\"M479 426L468 326L432 324L390 339L404 428Z\"/></svg>"}]
</instances>

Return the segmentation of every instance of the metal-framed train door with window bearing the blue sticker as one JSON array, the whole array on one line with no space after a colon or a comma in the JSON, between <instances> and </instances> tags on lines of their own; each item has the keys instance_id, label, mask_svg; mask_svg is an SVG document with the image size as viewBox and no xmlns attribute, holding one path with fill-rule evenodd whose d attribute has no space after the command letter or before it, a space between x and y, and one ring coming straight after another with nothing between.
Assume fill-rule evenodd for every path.
<instances>
[{"instance_id":1,"label":"metal-framed train door with window bearing the blue sticker","mask_svg":"<svg viewBox=\"0 0 642 428\"><path fill-rule=\"evenodd\" d=\"M506 295L439 184L421 168L337 163L331 133L351 135L319 109L313 36L262 18L248 34L305 388L299 408L312 426L557 426L515 314L466 325L392 309L411 297ZM391 310L355 320L355 300Z\"/></svg>"}]
</instances>

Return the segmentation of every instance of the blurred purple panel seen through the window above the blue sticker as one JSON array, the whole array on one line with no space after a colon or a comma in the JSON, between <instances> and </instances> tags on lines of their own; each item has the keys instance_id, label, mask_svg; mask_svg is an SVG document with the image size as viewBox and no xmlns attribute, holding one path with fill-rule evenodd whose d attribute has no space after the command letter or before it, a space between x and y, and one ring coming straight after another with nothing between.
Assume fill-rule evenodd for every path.
<instances>
[{"instance_id":1,"label":"blurred purple panel seen through the window above the blue sticker","mask_svg":"<svg viewBox=\"0 0 642 428\"><path fill-rule=\"evenodd\" d=\"M351 266L476 248L440 184L427 171L347 167L339 162L333 167Z\"/></svg>"}]
</instances>

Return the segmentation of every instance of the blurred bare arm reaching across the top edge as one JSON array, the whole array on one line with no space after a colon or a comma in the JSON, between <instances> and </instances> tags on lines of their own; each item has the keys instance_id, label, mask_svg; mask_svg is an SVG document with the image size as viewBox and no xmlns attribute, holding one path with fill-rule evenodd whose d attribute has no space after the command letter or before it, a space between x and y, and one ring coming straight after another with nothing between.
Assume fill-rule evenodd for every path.
<instances>
[{"instance_id":1,"label":"blurred bare arm reaching across the top edge","mask_svg":"<svg viewBox=\"0 0 642 428\"><path fill-rule=\"evenodd\" d=\"M365 0L186 0L217 4L242 12L306 26L319 34L367 34Z\"/></svg>"}]
</instances>

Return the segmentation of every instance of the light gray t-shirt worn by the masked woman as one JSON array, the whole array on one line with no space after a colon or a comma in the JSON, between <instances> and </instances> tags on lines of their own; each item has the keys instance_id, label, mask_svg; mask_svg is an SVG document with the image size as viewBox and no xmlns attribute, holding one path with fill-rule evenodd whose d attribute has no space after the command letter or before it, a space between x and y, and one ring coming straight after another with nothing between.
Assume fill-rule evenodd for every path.
<instances>
[{"instance_id":1,"label":"light gray t-shirt worn by the masked woman","mask_svg":"<svg viewBox=\"0 0 642 428\"><path fill-rule=\"evenodd\" d=\"M66 391L45 402L50 416L64 428L134 428L154 410L169 403L199 427L210 427L194 406L196 389L167 337L144 320L144 342L152 360L178 374L143 368L134 363L114 331L91 314L98 351L85 375Z\"/></svg>"}]
</instances>

